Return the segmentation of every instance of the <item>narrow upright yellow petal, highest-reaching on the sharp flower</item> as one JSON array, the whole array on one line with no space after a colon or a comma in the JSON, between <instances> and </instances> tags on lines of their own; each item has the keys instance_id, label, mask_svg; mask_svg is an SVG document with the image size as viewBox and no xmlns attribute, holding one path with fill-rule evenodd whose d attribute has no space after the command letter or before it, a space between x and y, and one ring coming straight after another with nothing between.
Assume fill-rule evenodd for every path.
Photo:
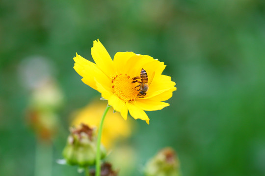
<instances>
[{"instance_id":1,"label":"narrow upright yellow petal, highest-reaching on the sharp flower","mask_svg":"<svg viewBox=\"0 0 265 176\"><path fill-rule=\"evenodd\" d=\"M93 47L91 48L91 55L97 66L99 66L108 77L112 77L115 74L113 61L106 51L106 48L99 40L94 41Z\"/></svg>"}]
</instances>

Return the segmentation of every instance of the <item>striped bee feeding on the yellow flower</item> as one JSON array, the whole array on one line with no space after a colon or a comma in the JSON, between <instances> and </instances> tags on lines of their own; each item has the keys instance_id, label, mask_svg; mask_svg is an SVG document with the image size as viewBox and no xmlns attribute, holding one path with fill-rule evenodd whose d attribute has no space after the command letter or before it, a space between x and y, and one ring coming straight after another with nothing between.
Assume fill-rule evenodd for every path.
<instances>
[{"instance_id":1,"label":"striped bee feeding on the yellow flower","mask_svg":"<svg viewBox=\"0 0 265 176\"><path fill-rule=\"evenodd\" d=\"M154 75L151 78L154 78ZM141 81L138 81L137 79L141 79ZM141 70L140 77L136 76L132 78L132 80L134 80L132 81L132 83L140 83L135 88L140 87L139 89L137 89L137 91L139 91L138 96L141 96L140 98L143 98L146 95L146 92L152 80L148 83L148 76L147 76L145 69L143 68Z\"/></svg>"}]
</instances>

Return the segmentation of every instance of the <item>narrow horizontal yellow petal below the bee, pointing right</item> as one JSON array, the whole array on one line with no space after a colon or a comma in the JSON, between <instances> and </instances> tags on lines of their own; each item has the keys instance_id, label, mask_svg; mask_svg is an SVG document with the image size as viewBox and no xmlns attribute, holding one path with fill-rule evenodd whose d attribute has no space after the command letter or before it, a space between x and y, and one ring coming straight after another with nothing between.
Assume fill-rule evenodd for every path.
<instances>
[{"instance_id":1,"label":"narrow horizontal yellow petal below the bee, pointing right","mask_svg":"<svg viewBox=\"0 0 265 176\"><path fill-rule=\"evenodd\" d=\"M164 107L169 106L168 103L153 101L149 99L137 99L137 101L134 102L134 105L138 106L142 110L148 110L148 111L162 110Z\"/></svg>"}]
</instances>

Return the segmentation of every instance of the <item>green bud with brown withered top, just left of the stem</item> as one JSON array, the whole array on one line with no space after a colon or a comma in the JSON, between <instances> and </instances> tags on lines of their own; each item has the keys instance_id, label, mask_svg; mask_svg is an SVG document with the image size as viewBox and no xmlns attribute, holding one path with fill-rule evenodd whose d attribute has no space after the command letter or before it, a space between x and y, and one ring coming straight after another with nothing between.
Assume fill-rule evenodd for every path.
<instances>
[{"instance_id":1,"label":"green bud with brown withered top, just left of the stem","mask_svg":"<svg viewBox=\"0 0 265 176\"><path fill-rule=\"evenodd\" d=\"M85 167L94 165L97 153L96 130L81 124L77 129L70 129L63 156L70 165ZM106 150L101 145L101 158L106 156Z\"/></svg>"}]
</instances>

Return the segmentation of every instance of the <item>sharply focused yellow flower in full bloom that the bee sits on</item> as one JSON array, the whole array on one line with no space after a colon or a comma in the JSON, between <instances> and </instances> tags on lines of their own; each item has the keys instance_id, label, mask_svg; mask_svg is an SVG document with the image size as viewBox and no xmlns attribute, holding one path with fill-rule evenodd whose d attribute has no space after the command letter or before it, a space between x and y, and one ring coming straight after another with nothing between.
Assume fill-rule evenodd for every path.
<instances>
[{"instance_id":1,"label":"sharply focused yellow flower in full bloom that the bee sits on","mask_svg":"<svg viewBox=\"0 0 265 176\"><path fill-rule=\"evenodd\" d=\"M172 92L177 88L171 77L162 75L165 68L163 62L133 52L117 52L112 61L99 40L94 41L91 54L96 64L77 54L74 57L74 69L83 77L82 81L98 90L125 120L129 110L134 119L139 118L149 124L144 110L161 110L169 106L162 101L171 98ZM132 79L140 77L142 69L146 70L149 80L147 84L150 84L146 95L139 95L139 83Z\"/></svg>"}]
</instances>

